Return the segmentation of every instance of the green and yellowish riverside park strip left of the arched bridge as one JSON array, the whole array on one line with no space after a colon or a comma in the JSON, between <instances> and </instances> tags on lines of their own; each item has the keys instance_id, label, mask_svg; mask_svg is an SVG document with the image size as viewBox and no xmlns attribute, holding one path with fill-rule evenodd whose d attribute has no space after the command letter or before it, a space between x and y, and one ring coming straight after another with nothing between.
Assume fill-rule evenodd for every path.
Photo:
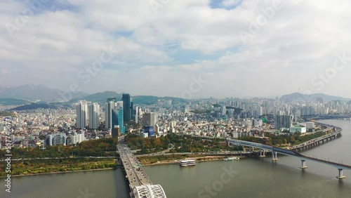
<instances>
[{"instance_id":1,"label":"green and yellowish riverside park strip left of the arched bridge","mask_svg":"<svg viewBox=\"0 0 351 198\"><path fill-rule=\"evenodd\" d=\"M46 146L11 149L11 176L110 169L117 166L117 138L89 140L70 146ZM1 159L6 150L0 150ZM6 176L6 161L0 162L0 176Z\"/></svg>"}]
</instances>

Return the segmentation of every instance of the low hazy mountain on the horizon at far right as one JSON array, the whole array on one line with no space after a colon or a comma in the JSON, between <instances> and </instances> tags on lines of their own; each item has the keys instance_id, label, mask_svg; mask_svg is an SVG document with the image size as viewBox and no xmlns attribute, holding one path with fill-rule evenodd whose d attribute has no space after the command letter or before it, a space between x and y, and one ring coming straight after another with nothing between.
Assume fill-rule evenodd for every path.
<instances>
[{"instance_id":1,"label":"low hazy mountain on the horizon at far right","mask_svg":"<svg viewBox=\"0 0 351 198\"><path fill-rule=\"evenodd\" d=\"M321 98L324 102L331 101L331 100L350 100L350 99L341 98L338 96L326 95L324 93L314 93L314 94L291 93L288 95L282 95L282 97L280 97L280 100L283 102L317 101L318 99L321 99Z\"/></svg>"}]
</instances>

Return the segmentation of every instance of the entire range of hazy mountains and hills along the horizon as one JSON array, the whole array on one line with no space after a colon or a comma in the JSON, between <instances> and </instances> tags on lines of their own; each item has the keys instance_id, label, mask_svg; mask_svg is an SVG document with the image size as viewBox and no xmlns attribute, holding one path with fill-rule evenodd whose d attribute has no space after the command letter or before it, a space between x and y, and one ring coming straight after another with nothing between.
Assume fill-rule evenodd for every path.
<instances>
[{"instance_id":1,"label":"entire range of hazy mountains and hills along the horizon","mask_svg":"<svg viewBox=\"0 0 351 198\"><path fill-rule=\"evenodd\" d=\"M63 101L62 94L72 94L72 99L69 101ZM123 93L117 93L114 91L105 91L100 93L88 94L84 92L69 93L65 91L60 91L57 88L48 88L43 85L22 85L22 86L0 86L0 105L28 105L33 102L43 101L46 103L62 103L65 102L66 105L77 103L78 100L87 100L93 103L105 103L107 98L116 98L121 100ZM188 103L188 100L183 98L174 97L157 97L152 95L134 95L133 103L152 105L157 103L158 100L173 100L173 103ZM323 100L345 100L350 101L348 98L341 98L333 95L326 95L323 93L314 94L302 94L302 93L291 93L282 95L280 97L281 101L284 102L296 102L302 101L315 101Z\"/></svg>"}]
</instances>

